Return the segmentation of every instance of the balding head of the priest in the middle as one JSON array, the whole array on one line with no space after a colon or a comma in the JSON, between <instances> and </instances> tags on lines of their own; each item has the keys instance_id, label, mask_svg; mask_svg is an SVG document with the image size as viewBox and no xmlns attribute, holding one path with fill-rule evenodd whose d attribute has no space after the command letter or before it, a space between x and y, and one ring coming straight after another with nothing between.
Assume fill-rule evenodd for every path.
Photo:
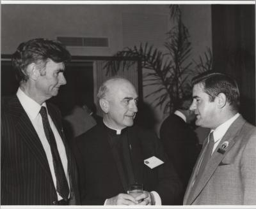
<instances>
[{"instance_id":1,"label":"balding head of the priest in the middle","mask_svg":"<svg viewBox=\"0 0 256 209\"><path fill-rule=\"evenodd\" d=\"M129 80L110 78L100 86L97 96L104 122L109 127L124 129L133 125L133 119L138 112L138 94Z\"/></svg>"}]
</instances>

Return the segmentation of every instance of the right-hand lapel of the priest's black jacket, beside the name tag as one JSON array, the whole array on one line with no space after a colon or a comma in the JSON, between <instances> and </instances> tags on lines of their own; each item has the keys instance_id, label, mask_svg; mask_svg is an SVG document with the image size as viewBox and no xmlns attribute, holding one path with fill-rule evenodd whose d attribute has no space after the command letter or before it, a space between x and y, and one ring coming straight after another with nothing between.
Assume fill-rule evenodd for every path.
<instances>
[{"instance_id":1,"label":"right-hand lapel of the priest's black jacket, beside the name tag","mask_svg":"<svg viewBox=\"0 0 256 209\"><path fill-rule=\"evenodd\" d=\"M143 155L141 152L140 139L138 138L138 133L134 131L134 127L128 128L128 140L131 148L131 162L132 169L134 173L134 180L138 183L143 182Z\"/></svg>"}]
</instances>

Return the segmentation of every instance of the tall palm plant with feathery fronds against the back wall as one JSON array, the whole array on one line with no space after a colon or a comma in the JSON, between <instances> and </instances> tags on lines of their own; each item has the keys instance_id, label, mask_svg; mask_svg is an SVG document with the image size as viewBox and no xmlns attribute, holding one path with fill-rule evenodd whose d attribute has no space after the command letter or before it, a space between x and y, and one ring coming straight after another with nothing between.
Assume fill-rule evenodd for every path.
<instances>
[{"instance_id":1,"label":"tall palm plant with feathery fronds against the back wall","mask_svg":"<svg viewBox=\"0 0 256 209\"><path fill-rule=\"evenodd\" d=\"M143 74L144 87L154 86L154 90L145 97L154 96L155 106L163 108L164 113L172 113L177 108L179 99L191 94L189 78L191 74L212 68L212 54L208 48L199 62L191 61L191 42L189 31L182 22L179 5L170 5L170 18L174 26L167 32L164 42L166 52L148 43L141 43L138 47L125 47L115 54L115 57L139 58L141 67L148 69ZM108 61L104 68L115 75L119 69L129 69L131 61Z\"/></svg>"}]
</instances>

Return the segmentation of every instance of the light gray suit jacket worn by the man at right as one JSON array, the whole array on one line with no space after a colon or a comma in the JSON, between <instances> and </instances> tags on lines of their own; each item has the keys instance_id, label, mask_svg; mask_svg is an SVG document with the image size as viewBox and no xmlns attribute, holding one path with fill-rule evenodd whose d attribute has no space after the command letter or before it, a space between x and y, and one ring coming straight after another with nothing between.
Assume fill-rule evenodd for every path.
<instances>
[{"instance_id":1,"label":"light gray suit jacket worn by the man at right","mask_svg":"<svg viewBox=\"0 0 256 209\"><path fill-rule=\"evenodd\" d=\"M225 141L228 147L220 150ZM240 115L228 128L193 188L205 145L206 142L193 169L183 204L256 205L256 127Z\"/></svg>"}]
</instances>

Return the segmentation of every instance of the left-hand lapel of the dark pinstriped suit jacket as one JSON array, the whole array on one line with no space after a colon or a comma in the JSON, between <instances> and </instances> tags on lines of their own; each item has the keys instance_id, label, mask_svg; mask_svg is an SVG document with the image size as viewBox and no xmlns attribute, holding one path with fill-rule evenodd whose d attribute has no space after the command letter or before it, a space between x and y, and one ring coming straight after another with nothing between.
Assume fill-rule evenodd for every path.
<instances>
[{"instance_id":1,"label":"left-hand lapel of the dark pinstriped suit jacket","mask_svg":"<svg viewBox=\"0 0 256 209\"><path fill-rule=\"evenodd\" d=\"M37 159L39 164L42 166L47 177L52 179L43 145L27 113L22 108L17 96L13 97L9 104L10 114L17 118L16 128L20 134L20 140L23 140L24 143L26 143L31 150L31 153L35 156L35 159Z\"/></svg>"}]
</instances>

